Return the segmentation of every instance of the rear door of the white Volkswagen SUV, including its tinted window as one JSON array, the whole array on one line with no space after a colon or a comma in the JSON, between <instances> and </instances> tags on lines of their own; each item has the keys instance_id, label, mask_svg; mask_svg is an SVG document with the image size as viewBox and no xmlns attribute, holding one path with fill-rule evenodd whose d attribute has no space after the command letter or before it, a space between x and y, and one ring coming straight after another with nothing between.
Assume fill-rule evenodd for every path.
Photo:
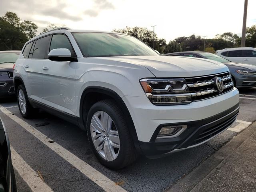
<instances>
[{"instance_id":1,"label":"rear door of the white Volkswagen SUV, including its tinted window","mask_svg":"<svg viewBox=\"0 0 256 192\"><path fill-rule=\"evenodd\" d=\"M38 102L42 102L42 94L44 93L42 89L42 66L46 59L49 40L50 36L35 40L29 54L26 54L27 59L24 62L26 76L23 78L28 97Z\"/></svg>"}]
</instances>

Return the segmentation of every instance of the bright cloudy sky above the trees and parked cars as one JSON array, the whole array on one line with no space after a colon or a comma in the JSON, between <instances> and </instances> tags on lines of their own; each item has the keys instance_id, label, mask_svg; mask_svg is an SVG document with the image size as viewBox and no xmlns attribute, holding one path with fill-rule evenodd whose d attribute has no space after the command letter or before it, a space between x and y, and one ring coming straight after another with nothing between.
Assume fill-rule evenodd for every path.
<instances>
[{"instance_id":1,"label":"bright cloudy sky above the trees and parked cars","mask_svg":"<svg viewBox=\"0 0 256 192\"><path fill-rule=\"evenodd\" d=\"M255 8L256 0L248 0L247 27L256 24ZM102 31L156 25L158 38L169 42L192 34L240 36L244 0L0 0L0 16L7 11L37 24L38 34L48 24Z\"/></svg>"}]
</instances>

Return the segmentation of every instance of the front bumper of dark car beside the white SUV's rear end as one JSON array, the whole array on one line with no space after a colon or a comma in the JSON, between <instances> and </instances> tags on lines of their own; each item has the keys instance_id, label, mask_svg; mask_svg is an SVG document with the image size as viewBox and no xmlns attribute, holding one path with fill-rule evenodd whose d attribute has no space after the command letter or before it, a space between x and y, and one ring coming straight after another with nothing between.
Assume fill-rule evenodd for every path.
<instances>
[{"instance_id":1,"label":"front bumper of dark car beside the white SUV's rear end","mask_svg":"<svg viewBox=\"0 0 256 192\"><path fill-rule=\"evenodd\" d=\"M13 79L8 75L0 76L0 98L7 98L8 96L14 96Z\"/></svg>"}]
</instances>

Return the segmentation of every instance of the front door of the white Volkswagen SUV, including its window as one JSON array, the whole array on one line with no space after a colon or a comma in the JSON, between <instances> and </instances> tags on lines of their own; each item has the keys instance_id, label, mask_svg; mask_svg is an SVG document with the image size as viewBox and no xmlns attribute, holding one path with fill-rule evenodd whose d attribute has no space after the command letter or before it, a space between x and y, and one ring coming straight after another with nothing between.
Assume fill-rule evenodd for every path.
<instances>
[{"instance_id":1,"label":"front door of the white Volkswagen SUV, including its window","mask_svg":"<svg viewBox=\"0 0 256 192\"><path fill-rule=\"evenodd\" d=\"M74 49L65 34L53 34L49 46L52 49L67 48L72 56ZM44 104L58 111L76 115L75 73L77 62L58 62L46 59L43 65Z\"/></svg>"}]
</instances>

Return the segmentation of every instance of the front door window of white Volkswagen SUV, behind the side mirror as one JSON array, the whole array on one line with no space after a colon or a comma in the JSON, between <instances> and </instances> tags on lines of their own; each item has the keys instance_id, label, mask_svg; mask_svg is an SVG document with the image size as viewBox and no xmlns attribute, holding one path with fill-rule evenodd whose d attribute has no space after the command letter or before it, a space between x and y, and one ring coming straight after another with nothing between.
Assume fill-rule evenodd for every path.
<instances>
[{"instance_id":1,"label":"front door window of white Volkswagen SUV, behind the side mirror","mask_svg":"<svg viewBox=\"0 0 256 192\"><path fill-rule=\"evenodd\" d=\"M58 48L66 48L70 50L71 56L74 56L74 52L72 50L72 46L65 35L56 34L52 36L50 51Z\"/></svg>"}]
</instances>

